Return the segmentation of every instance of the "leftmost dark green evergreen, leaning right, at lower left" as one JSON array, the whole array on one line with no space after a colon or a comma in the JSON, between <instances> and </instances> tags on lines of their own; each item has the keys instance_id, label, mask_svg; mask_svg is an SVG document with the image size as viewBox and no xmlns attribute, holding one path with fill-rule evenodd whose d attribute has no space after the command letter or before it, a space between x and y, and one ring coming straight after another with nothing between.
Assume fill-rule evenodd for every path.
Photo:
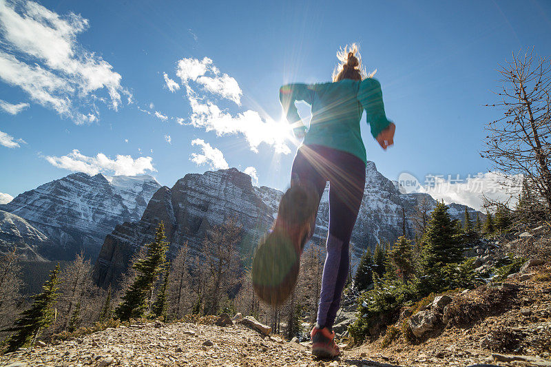
<instances>
[{"instance_id":1,"label":"leftmost dark green evergreen, leaning right, at lower left","mask_svg":"<svg viewBox=\"0 0 551 367\"><path fill-rule=\"evenodd\" d=\"M34 342L39 332L52 322L52 306L58 296L58 275L59 263L54 270L50 271L49 279L42 286L42 293L34 296L32 306L21 313L21 317L15 321L14 326L6 329L6 331L15 332L8 339L8 352L14 352L17 348Z\"/></svg>"}]
</instances>

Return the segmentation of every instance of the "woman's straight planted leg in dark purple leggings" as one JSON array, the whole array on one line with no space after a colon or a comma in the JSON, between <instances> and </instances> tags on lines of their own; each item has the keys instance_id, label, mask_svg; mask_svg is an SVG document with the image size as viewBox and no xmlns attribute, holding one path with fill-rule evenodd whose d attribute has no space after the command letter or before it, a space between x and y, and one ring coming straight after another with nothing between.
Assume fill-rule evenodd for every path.
<instances>
[{"instance_id":1,"label":"woman's straight planted leg in dark purple leggings","mask_svg":"<svg viewBox=\"0 0 551 367\"><path fill-rule=\"evenodd\" d=\"M329 234L318 308L318 325L331 328L349 273L349 243L362 204L365 164L344 152L335 155L329 189Z\"/></svg>"}]
</instances>

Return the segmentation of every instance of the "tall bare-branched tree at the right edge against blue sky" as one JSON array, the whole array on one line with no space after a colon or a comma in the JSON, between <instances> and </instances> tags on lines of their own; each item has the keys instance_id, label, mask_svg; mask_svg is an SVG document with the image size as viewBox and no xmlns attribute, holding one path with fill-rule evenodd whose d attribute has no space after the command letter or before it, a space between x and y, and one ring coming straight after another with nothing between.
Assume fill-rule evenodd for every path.
<instances>
[{"instance_id":1,"label":"tall bare-branched tree at the right edge against blue sky","mask_svg":"<svg viewBox=\"0 0 551 367\"><path fill-rule=\"evenodd\" d=\"M523 177L551 209L551 63L533 50L512 54L500 65L499 101L490 107L503 116L486 125L486 147L481 156L506 180ZM517 180L518 181L518 180ZM520 182L514 185L520 185Z\"/></svg>"}]
</instances>

